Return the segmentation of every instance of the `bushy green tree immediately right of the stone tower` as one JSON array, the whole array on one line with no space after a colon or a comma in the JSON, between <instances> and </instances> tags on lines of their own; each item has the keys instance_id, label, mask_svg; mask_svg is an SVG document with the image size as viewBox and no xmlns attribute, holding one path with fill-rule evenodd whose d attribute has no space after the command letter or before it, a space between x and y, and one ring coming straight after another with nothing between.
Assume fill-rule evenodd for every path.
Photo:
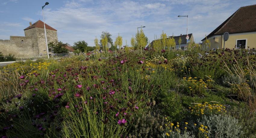
<instances>
[{"instance_id":1,"label":"bushy green tree immediately right of the stone tower","mask_svg":"<svg viewBox=\"0 0 256 138\"><path fill-rule=\"evenodd\" d=\"M55 41L55 42L50 42L48 44L48 47L52 47L55 54L60 54L60 53L68 53L68 50L65 48L65 46L67 45L69 44L68 43L63 44L61 41Z\"/></svg>"}]
</instances>

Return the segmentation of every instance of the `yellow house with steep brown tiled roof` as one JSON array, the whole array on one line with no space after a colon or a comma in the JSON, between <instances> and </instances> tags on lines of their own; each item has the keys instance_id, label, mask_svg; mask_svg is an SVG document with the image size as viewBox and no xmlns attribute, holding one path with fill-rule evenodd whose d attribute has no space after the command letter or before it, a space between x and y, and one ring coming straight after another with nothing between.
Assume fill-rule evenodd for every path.
<instances>
[{"instance_id":1,"label":"yellow house with steep brown tiled roof","mask_svg":"<svg viewBox=\"0 0 256 138\"><path fill-rule=\"evenodd\" d=\"M240 7L233 15L211 32L207 39L210 48L224 48L223 34L229 32L229 39L225 42L225 48L256 48L256 4ZM206 38L203 46L209 46Z\"/></svg>"}]
</instances>

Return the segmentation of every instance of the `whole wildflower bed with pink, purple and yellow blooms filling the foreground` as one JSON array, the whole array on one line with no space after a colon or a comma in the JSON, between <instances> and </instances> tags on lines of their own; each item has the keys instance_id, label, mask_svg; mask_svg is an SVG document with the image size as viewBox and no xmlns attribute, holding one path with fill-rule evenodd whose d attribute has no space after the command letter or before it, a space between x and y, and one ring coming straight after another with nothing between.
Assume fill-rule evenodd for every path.
<instances>
[{"instance_id":1,"label":"whole wildflower bed with pink, purple and yellow blooms filling the foreground","mask_svg":"<svg viewBox=\"0 0 256 138\"><path fill-rule=\"evenodd\" d=\"M157 43L0 67L0 137L256 137L254 49Z\"/></svg>"}]
</instances>

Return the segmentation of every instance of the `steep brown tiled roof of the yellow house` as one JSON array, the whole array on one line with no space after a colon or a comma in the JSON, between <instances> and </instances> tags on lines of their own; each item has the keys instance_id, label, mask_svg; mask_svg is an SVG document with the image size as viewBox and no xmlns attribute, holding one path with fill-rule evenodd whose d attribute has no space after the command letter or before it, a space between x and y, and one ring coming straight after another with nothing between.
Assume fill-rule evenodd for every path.
<instances>
[{"instance_id":1,"label":"steep brown tiled roof of the yellow house","mask_svg":"<svg viewBox=\"0 0 256 138\"><path fill-rule=\"evenodd\" d=\"M211 32L207 38L213 35L223 35L225 32L229 34L255 32L256 31L256 4L240 7L226 21ZM201 41L204 41L205 38Z\"/></svg>"}]
</instances>

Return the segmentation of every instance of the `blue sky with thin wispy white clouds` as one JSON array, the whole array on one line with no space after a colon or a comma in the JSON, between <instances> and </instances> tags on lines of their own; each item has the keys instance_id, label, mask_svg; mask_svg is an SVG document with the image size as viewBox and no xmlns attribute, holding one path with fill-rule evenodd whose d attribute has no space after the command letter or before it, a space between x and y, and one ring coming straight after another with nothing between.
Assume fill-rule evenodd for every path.
<instances>
[{"instance_id":1,"label":"blue sky with thin wispy white clouds","mask_svg":"<svg viewBox=\"0 0 256 138\"><path fill-rule=\"evenodd\" d=\"M137 27L143 28L149 41L167 36L193 33L200 42L239 7L256 4L255 0L46 0L45 23L58 30L58 40L73 45L86 41L94 46L101 32L112 35L113 42L123 37L123 45L130 45ZM42 0L0 0L0 39L24 36L29 22L43 20Z\"/></svg>"}]
</instances>

